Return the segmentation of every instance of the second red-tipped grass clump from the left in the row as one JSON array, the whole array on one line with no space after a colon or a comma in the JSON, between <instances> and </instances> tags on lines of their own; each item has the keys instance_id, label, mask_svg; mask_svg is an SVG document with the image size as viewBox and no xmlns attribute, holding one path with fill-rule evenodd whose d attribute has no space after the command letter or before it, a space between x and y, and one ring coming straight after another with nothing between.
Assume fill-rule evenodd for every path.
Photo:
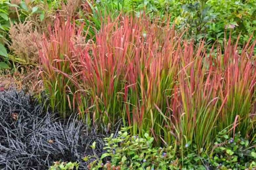
<instances>
[{"instance_id":1,"label":"second red-tipped grass clump from the left in the row","mask_svg":"<svg viewBox=\"0 0 256 170\"><path fill-rule=\"evenodd\" d=\"M127 54L133 43L127 25L118 21L102 25L96 42L81 54L83 87L91 90L93 123L115 123L122 117L122 96ZM125 21L124 21L125 22ZM131 20L131 23L133 21Z\"/></svg>"}]
</instances>

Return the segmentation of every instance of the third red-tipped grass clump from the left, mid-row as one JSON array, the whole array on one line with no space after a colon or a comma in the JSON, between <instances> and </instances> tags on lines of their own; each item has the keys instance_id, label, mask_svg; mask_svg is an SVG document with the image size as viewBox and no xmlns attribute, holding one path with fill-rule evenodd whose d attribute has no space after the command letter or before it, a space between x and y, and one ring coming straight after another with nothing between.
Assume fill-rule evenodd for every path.
<instances>
[{"instance_id":1,"label":"third red-tipped grass clump from the left, mid-row","mask_svg":"<svg viewBox=\"0 0 256 170\"><path fill-rule=\"evenodd\" d=\"M168 122L165 116L170 114L167 104L178 71L179 56L175 48L179 40L173 28L168 25L160 28L157 21L147 23L142 35L127 72L130 96L126 105L132 113L130 122L133 121L134 133L150 129L155 139L159 139L164 131L162 127Z\"/></svg>"}]
</instances>

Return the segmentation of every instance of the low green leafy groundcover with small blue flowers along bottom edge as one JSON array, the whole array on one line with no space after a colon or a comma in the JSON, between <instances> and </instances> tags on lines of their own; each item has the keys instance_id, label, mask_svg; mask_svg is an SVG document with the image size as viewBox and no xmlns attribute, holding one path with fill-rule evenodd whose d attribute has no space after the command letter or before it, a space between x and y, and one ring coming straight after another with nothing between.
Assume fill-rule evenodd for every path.
<instances>
[{"instance_id":1,"label":"low green leafy groundcover with small blue flowers along bottom edge","mask_svg":"<svg viewBox=\"0 0 256 170\"><path fill-rule=\"evenodd\" d=\"M96 169L245 169L256 167L256 142L249 144L240 133L229 138L226 130L219 133L216 143L209 153L199 156L196 150L183 157L172 146L153 147L153 138L147 133L143 138L132 136L123 128L117 137L113 134L105 138L106 153L89 164L91 170ZM194 144L192 144L194 145ZM95 147L95 146L92 146ZM184 146L188 149L188 144ZM87 156L84 160L95 158Z\"/></svg>"}]
</instances>

